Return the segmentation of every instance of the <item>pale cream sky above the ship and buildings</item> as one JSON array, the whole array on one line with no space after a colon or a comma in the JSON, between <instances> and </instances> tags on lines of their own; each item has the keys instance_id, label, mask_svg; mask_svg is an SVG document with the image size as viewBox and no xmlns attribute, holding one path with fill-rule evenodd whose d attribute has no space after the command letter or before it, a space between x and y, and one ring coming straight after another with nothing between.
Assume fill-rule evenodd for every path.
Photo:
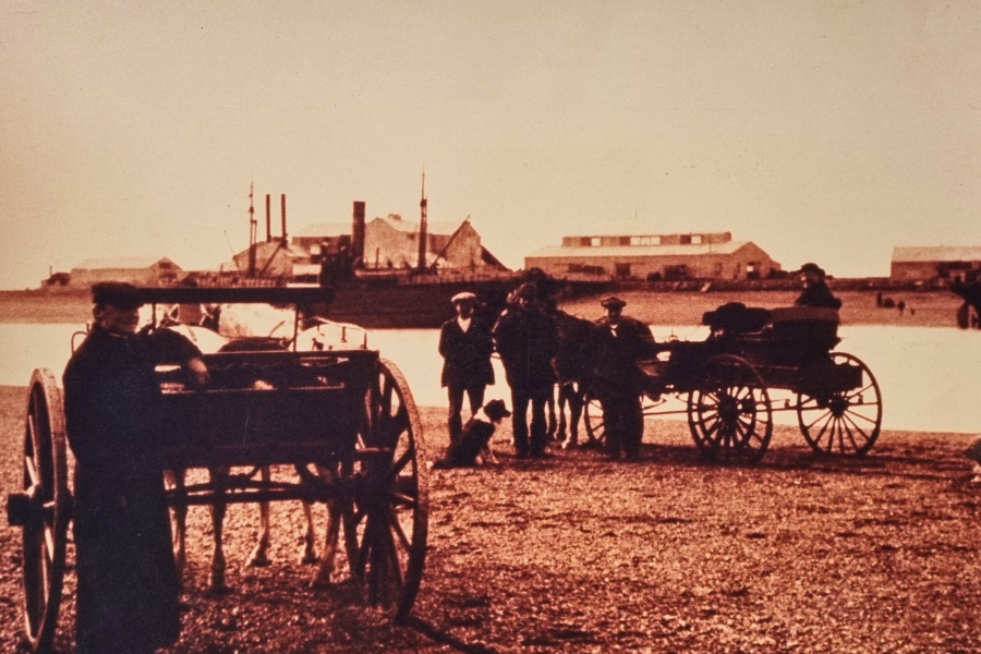
<instances>
[{"instance_id":1,"label":"pale cream sky above the ship and buildings","mask_svg":"<svg viewBox=\"0 0 981 654\"><path fill-rule=\"evenodd\" d=\"M0 288L215 268L253 183L262 231L417 220L423 171L512 267L729 231L886 276L981 245L981 2L0 0Z\"/></svg>"}]
</instances>

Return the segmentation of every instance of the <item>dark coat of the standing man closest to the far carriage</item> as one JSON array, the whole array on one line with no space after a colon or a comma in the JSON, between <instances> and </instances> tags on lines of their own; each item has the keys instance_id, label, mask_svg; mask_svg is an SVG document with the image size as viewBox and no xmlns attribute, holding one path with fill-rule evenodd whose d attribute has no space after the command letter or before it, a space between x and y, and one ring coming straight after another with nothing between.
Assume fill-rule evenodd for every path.
<instances>
[{"instance_id":1,"label":"dark coat of the standing man closest to the far carriage","mask_svg":"<svg viewBox=\"0 0 981 654\"><path fill-rule=\"evenodd\" d=\"M651 328L623 316L616 336L607 318L596 322L592 336L593 388L601 395L640 395L646 378L639 359L654 356L657 346Z\"/></svg>"}]
</instances>

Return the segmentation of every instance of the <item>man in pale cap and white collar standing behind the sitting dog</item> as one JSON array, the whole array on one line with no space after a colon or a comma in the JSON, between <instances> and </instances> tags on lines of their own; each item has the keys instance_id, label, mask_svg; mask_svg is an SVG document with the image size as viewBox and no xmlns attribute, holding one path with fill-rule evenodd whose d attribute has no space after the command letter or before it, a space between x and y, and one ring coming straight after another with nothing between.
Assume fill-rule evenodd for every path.
<instances>
[{"instance_id":1,"label":"man in pale cap and white collar standing behind the sitting dog","mask_svg":"<svg viewBox=\"0 0 981 654\"><path fill-rule=\"evenodd\" d=\"M448 427L450 443L456 443L463 428L460 412L463 395L470 400L470 414L484 405L484 391L494 384L491 354L494 342L491 329L474 317L476 295L457 293L452 298L457 316L443 324L439 330L439 354L443 355L441 384L449 398Z\"/></svg>"}]
</instances>

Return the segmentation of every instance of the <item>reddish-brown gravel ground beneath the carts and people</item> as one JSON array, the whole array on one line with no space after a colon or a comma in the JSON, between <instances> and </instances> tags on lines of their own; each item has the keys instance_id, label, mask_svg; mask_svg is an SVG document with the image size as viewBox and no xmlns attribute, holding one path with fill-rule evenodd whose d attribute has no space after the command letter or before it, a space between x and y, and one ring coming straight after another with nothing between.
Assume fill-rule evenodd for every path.
<instances>
[{"instance_id":1,"label":"reddish-brown gravel ground beneath the carts and people","mask_svg":"<svg viewBox=\"0 0 981 654\"><path fill-rule=\"evenodd\" d=\"M0 387L4 491L20 485L24 389ZM422 411L429 458L444 411ZM508 433L507 425L502 429ZM861 460L816 457L777 426L753 468L701 462L676 422L643 460L592 451L433 471L415 620L391 625L295 562L299 505L274 507L266 568L244 566L257 509L232 507L232 591L205 589L206 509L191 511L184 630L167 654L314 652L981 652L981 487L959 434L884 433ZM317 507L318 528L324 509ZM0 651L21 643L20 532L0 528ZM72 651L74 572L59 650Z\"/></svg>"}]
</instances>

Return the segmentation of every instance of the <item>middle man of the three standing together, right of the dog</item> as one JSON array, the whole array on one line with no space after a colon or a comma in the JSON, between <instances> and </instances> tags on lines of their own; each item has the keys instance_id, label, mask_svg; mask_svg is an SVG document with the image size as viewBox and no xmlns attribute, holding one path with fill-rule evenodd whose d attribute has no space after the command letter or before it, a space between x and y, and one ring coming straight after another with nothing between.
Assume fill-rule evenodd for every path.
<instances>
[{"instance_id":1,"label":"middle man of the three standing together, right of the dog","mask_svg":"<svg viewBox=\"0 0 981 654\"><path fill-rule=\"evenodd\" d=\"M545 456L545 404L552 397L555 372L552 358L558 351L555 323L537 304L535 287L525 283L514 293L518 305L509 307L494 326L494 344L500 353L511 387L511 426L519 459ZM531 403L531 434L528 407Z\"/></svg>"}]
</instances>

